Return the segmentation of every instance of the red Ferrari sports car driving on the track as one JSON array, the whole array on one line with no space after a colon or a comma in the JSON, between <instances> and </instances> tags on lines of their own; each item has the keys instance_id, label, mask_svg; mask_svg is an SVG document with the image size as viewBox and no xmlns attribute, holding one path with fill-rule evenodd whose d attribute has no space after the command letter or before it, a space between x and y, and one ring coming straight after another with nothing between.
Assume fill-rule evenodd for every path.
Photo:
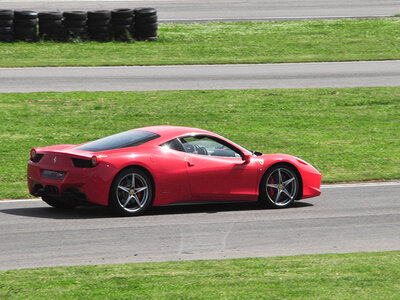
<instances>
[{"instance_id":1,"label":"red Ferrari sports car driving on the track","mask_svg":"<svg viewBox=\"0 0 400 300\"><path fill-rule=\"evenodd\" d=\"M150 205L200 201L288 207L321 194L321 174L307 162L197 128L143 127L30 154L29 192L58 208L90 202L133 216Z\"/></svg>"}]
</instances>

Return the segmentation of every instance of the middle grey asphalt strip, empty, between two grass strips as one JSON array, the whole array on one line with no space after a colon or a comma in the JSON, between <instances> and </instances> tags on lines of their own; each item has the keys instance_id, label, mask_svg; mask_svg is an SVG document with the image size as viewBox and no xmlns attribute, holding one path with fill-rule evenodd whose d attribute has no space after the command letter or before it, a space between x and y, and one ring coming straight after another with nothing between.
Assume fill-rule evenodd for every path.
<instances>
[{"instance_id":1,"label":"middle grey asphalt strip, empty, between two grass strips","mask_svg":"<svg viewBox=\"0 0 400 300\"><path fill-rule=\"evenodd\" d=\"M400 60L0 70L0 92L400 86Z\"/></svg>"}]
</instances>

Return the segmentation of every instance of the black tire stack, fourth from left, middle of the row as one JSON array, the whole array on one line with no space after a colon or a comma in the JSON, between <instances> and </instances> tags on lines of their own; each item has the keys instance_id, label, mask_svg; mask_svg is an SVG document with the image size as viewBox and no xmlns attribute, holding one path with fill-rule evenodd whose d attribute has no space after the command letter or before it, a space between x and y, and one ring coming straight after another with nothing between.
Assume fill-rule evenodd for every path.
<instances>
[{"instance_id":1,"label":"black tire stack, fourth from left, middle of the row","mask_svg":"<svg viewBox=\"0 0 400 300\"><path fill-rule=\"evenodd\" d=\"M64 16L64 28L68 40L84 40L87 37L87 12L76 10L66 11Z\"/></svg>"}]
</instances>

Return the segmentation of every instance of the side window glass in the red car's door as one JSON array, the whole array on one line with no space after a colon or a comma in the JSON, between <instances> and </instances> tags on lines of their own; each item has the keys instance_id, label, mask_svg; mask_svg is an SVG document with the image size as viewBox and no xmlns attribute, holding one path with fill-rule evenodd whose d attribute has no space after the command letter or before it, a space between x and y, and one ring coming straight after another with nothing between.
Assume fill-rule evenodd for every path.
<instances>
[{"instance_id":1,"label":"side window glass in the red car's door","mask_svg":"<svg viewBox=\"0 0 400 300\"><path fill-rule=\"evenodd\" d=\"M241 157L240 153L207 136L189 136L180 138L180 140L187 153L219 157Z\"/></svg>"}]
</instances>

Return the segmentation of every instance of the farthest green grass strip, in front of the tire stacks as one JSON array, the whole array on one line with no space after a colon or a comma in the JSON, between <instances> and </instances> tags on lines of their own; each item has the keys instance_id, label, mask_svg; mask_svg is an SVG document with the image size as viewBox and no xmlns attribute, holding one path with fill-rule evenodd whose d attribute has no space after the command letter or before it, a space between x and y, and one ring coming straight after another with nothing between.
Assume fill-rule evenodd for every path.
<instances>
[{"instance_id":1,"label":"farthest green grass strip, in front of the tire stacks","mask_svg":"<svg viewBox=\"0 0 400 300\"><path fill-rule=\"evenodd\" d=\"M0 44L0 67L400 59L400 19L161 24L156 42Z\"/></svg>"}]
</instances>

